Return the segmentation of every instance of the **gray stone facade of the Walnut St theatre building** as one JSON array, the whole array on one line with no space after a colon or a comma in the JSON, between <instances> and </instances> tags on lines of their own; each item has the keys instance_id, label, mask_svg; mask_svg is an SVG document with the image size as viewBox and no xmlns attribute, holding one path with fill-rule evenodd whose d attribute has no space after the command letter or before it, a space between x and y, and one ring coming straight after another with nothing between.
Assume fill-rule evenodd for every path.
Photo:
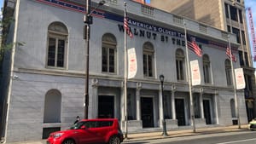
<instances>
[{"instance_id":1,"label":"gray stone facade of the Walnut St theatre building","mask_svg":"<svg viewBox=\"0 0 256 144\"><path fill-rule=\"evenodd\" d=\"M41 1L42 2L42 1ZM36 0L17 1L15 7L15 42L24 42L24 46L15 46L12 53L13 69L11 69L9 104L6 117L6 130L4 138L6 141L31 141L42 139L44 128L67 129L76 116L84 117L84 61L85 43L83 39L83 13L69 7L62 7L55 3L40 3ZM77 3L73 3L77 2ZM73 1L74 6L84 7L79 1ZM95 3L93 3L95 4ZM104 16L95 14L90 32L90 80L89 80L89 118L99 117L99 97L113 96L113 117L118 118L124 127L124 32L120 31L119 25L123 21L115 20L118 16L123 17L123 1L115 5L107 3L102 6L101 13ZM179 122L177 118L178 107L175 101L183 101L184 126L191 127L190 106L189 106L189 85L187 73L185 80L177 80L176 51L185 46L178 44L184 41L184 37L170 35L164 28L183 35L183 26L177 24L174 19L177 15L168 14L154 9L154 15L142 14L141 4L127 2L128 14L132 20L142 21L143 24L159 26L158 32L147 29L147 26L131 26L132 32L135 29L139 32L151 32L152 36L134 35L127 39L128 48L136 48L137 53L137 75L128 81L128 95L130 103L128 106L129 132L139 132L144 129L143 111L145 107L142 101L152 101L153 107L152 125L153 129L162 127L161 120L166 117L166 128L177 129ZM102 12L103 11L103 12ZM113 16L109 16L112 14ZM116 16L116 17L114 17ZM188 32L204 41L227 44L224 33L218 29L207 27L208 33L200 32L199 23L181 19L186 22ZM67 26L67 49L65 55L65 66L53 68L47 66L48 29L53 22L61 22ZM102 36L106 33L116 37L116 71L113 73L102 72ZM153 37L155 33L155 37ZM164 37L164 38L163 38ZM167 37L167 38L166 38ZM143 43L150 42L154 45L154 71L153 77L143 75ZM236 37L231 35L230 42L237 48ZM201 43L203 54L207 54L211 61L211 84L203 82L203 61L201 57L189 50L189 60L198 60L202 84L193 87L192 92L196 100L199 100L199 116L196 118L195 126L204 127L207 125L206 114L203 112L203 101L208 102L210 124L231 125L233 124L230 101L234 99L234 89L227 85L224 61L227 58L225 48L217 45ZM237 56L238 54L235 53ZM235 68L240 67L239 63L233 63ZM186 66L184 65L184 68ZM159 75L165 75L164 95L166 103L163 112L162 93L160 89ZM203 89L203 91L202 91ZM46 99L54 94L60 95L61 104L55 107L47 104ZM238 105L241 124L247 123L247 113L242 90L237 90ZM200 98L199 98L200 97ZM144 98L144 99L143 99ZM49 99L50 100L50 99ZM164 101L165 102L165 101ZM164 103L163 102L163 103ZM46 107L45 107L46 106ZM50 106L50 107L47 107ZM45 122L45 111L51 108L56 115L60 115L58 122ZM165 115L165 116L164 116ZM57 117L57 116L56 116ZM48 119L50 120L50 119Z\"/></svg>"}]
</instances>

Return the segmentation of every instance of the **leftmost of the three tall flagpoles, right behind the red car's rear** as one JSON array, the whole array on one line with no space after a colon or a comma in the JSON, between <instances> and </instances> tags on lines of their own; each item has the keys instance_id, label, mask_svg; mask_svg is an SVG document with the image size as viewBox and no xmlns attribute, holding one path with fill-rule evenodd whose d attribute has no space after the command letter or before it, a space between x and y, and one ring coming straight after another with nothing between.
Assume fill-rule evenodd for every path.
<instances>
[{"instance_id":1,"label":"leftmost of the three tall flagpoles, right behind the red car's rear","mask_svg":"<svg viewBox=\"0 0 256 144\"><path fill-rule=\"evenodd\" d=\"M124 6L125 6L125 17L124 20L126 18L126 2L124 2ZM128 128L127 128L127 46L126 46L126 30L125 30L125 88L124 88L124 113L125 113L125 138L128 139Z\"/></svg>"}]
</instances>

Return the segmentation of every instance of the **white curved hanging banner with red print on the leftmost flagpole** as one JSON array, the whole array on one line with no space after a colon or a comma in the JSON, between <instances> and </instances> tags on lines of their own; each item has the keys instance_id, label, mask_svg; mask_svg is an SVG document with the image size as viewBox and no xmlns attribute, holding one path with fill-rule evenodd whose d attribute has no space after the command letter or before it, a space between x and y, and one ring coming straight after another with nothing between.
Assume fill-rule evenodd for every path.
<instances>
[{"instance_id":1,"label":"white curved hanging banner with red print on the leftmost flagpole","mask_svg":"<svg viewBox=\"0 0 256 144\"><path fill-rule=\"evenodd\" d=\"M128 79L134 78L137 73L137 58L135 48L127 50L128 53Z\"/></svg>"}]
</instances>

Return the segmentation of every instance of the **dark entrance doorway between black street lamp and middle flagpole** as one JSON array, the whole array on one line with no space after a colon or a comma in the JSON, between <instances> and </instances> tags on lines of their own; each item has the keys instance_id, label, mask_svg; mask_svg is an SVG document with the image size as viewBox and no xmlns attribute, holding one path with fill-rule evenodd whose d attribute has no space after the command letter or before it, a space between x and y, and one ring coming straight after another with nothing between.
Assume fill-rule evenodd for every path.
<instances>
[{"instance_id":1,"label":"dark entrance doorway between black street lamp and middle flagpole","mask_svg":"<svg viewBox=\"0 0 256 144\"><path fill-rule=\"evenodd\" d=\"M175 110L176 110L177 125L178 126L186 125L185 108L184 108L183 99L175 99Z\"/></svg>"}]
</instances>

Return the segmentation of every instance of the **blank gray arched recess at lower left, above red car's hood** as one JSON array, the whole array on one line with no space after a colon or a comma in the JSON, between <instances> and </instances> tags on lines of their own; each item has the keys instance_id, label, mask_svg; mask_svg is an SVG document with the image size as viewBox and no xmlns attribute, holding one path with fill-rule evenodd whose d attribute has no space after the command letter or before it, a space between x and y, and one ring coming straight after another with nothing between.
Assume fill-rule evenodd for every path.
<instances>
[{"instance_id":1,"label":"blank gray arched recess at lower left, above red car's hood","mask_svg":"<svg viewBox=\"0 0 256 144\"><path fill-rule=\"evenodd\" d=\"M50 89L44 100L44 123L61 123L61 92Z\"/></svg>"}]
</instances>

